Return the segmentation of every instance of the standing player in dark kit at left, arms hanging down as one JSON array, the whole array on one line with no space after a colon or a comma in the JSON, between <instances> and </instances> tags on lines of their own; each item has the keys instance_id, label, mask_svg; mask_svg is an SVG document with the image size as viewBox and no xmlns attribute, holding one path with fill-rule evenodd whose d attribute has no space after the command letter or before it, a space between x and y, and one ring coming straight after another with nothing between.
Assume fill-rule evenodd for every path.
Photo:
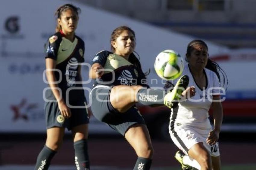
<instances>
[{"instance_id":1,"label":"standing player in dark kit at left, arms hanging down","mask_svg":"<svg viewBox=\"0 0 256 170\"><path fill-rule=\"evenodd\" d=\"M59 7L56 33L45 44L45 92L47 139L36 161L36 170L48 169L51 159L60 148L65 128L72 131L77 169L89 170L87 151L88 110L81 78L84 62L84 42L75 35L80 8L71 4Z\"/></svg>"}]
</instances>

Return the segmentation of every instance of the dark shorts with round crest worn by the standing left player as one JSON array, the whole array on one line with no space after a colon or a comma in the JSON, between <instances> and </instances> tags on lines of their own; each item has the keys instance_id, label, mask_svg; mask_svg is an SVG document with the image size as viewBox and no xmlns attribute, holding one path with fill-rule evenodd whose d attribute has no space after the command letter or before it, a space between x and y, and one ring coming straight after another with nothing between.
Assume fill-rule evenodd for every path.
<instances>
[{"instance_id":1,"label":"dark shorts with round crest worn by the standing left player","mask_svg":"<svg viewBox=\"0 0 256 170\"><path fill-rule=\"evenodd\" d=\"M58 102L45 102L45 120L46 128L66 127L71 130L73 127L89 123L88 111L85 107L85 101L70 101L72 106L80 106L82 108L70 108L71 117L64 119L58 108Z\"/></svg>"}]
</instances>

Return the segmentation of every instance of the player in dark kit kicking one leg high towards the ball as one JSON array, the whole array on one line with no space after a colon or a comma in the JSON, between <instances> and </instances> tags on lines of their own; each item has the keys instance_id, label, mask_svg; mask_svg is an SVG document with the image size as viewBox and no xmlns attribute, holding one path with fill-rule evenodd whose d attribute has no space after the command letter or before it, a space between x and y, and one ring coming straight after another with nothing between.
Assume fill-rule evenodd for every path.
<instances>
[{"instance_id":1,"label":"player in dark kit kicking one leg high towards the ball","mask_svg":"<svg viewBox=\"0 0 256 170\"><path fill-rule=\"evenodd\" d=\"M139 60L135 56L135 32L127 26L114 29L111 49L92 59L90 77L96 79L90 93L92 113L101 122L122 134L134 148L138 159L134 169L148 170L153 148L144 119L135 107L143 105L172 106L186 89L187 76L179 79L172 92L149 88ZM180 90L182 89L182 90ZM186 93L186 90L184 91Z\"/></svg>"}]
</instances>

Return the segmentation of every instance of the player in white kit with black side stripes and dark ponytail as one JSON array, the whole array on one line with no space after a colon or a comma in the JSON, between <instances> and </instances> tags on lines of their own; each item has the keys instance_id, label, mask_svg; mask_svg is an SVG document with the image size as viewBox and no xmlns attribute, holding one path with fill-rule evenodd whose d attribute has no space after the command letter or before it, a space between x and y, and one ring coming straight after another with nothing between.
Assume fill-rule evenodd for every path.
<instances>
[{"instance_id":1,"label":"player in white kit with black side stripes and dark ponytail","mask_svg":"<svg viewBox=\"0 0 256 170\"><path fill-rule=\"evenodd\" d=\"M183 169L218 170L220 151L217 141L223 117L220 95L224 91L220 87L218 71L221 71L224 80L226 74L208 58L208 46L201 40L188 44L186 61L188 65L185 65L183 75L189 76L189 87L195 93L172 108L169 132L173 142L182 150L176 153L175 158ZM208 119L210 107L213 111L213 128Z\"/></svg>"}]
</instances>

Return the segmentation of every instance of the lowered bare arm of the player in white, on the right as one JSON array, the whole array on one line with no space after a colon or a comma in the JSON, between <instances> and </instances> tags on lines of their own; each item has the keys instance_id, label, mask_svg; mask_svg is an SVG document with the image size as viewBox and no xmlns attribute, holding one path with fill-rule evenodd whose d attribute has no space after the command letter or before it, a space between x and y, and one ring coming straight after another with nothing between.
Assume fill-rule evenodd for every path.
<instances>
[{"instance_id":1,"label":"lowered bare arm of the player in white, on the right","mask_svg":"<svg viewBox=\"0 0 256 170\"><path fill-rule=\"evenodd\" d=\"M215 144L219 139L220 127L223 119L223 109L220 101L220 95L213 96L213 100L218 100L218 102L213 102L211 108L213 111L214 129L209 133L207 138L208 144Z\"/></svg>"}]
</instances>

